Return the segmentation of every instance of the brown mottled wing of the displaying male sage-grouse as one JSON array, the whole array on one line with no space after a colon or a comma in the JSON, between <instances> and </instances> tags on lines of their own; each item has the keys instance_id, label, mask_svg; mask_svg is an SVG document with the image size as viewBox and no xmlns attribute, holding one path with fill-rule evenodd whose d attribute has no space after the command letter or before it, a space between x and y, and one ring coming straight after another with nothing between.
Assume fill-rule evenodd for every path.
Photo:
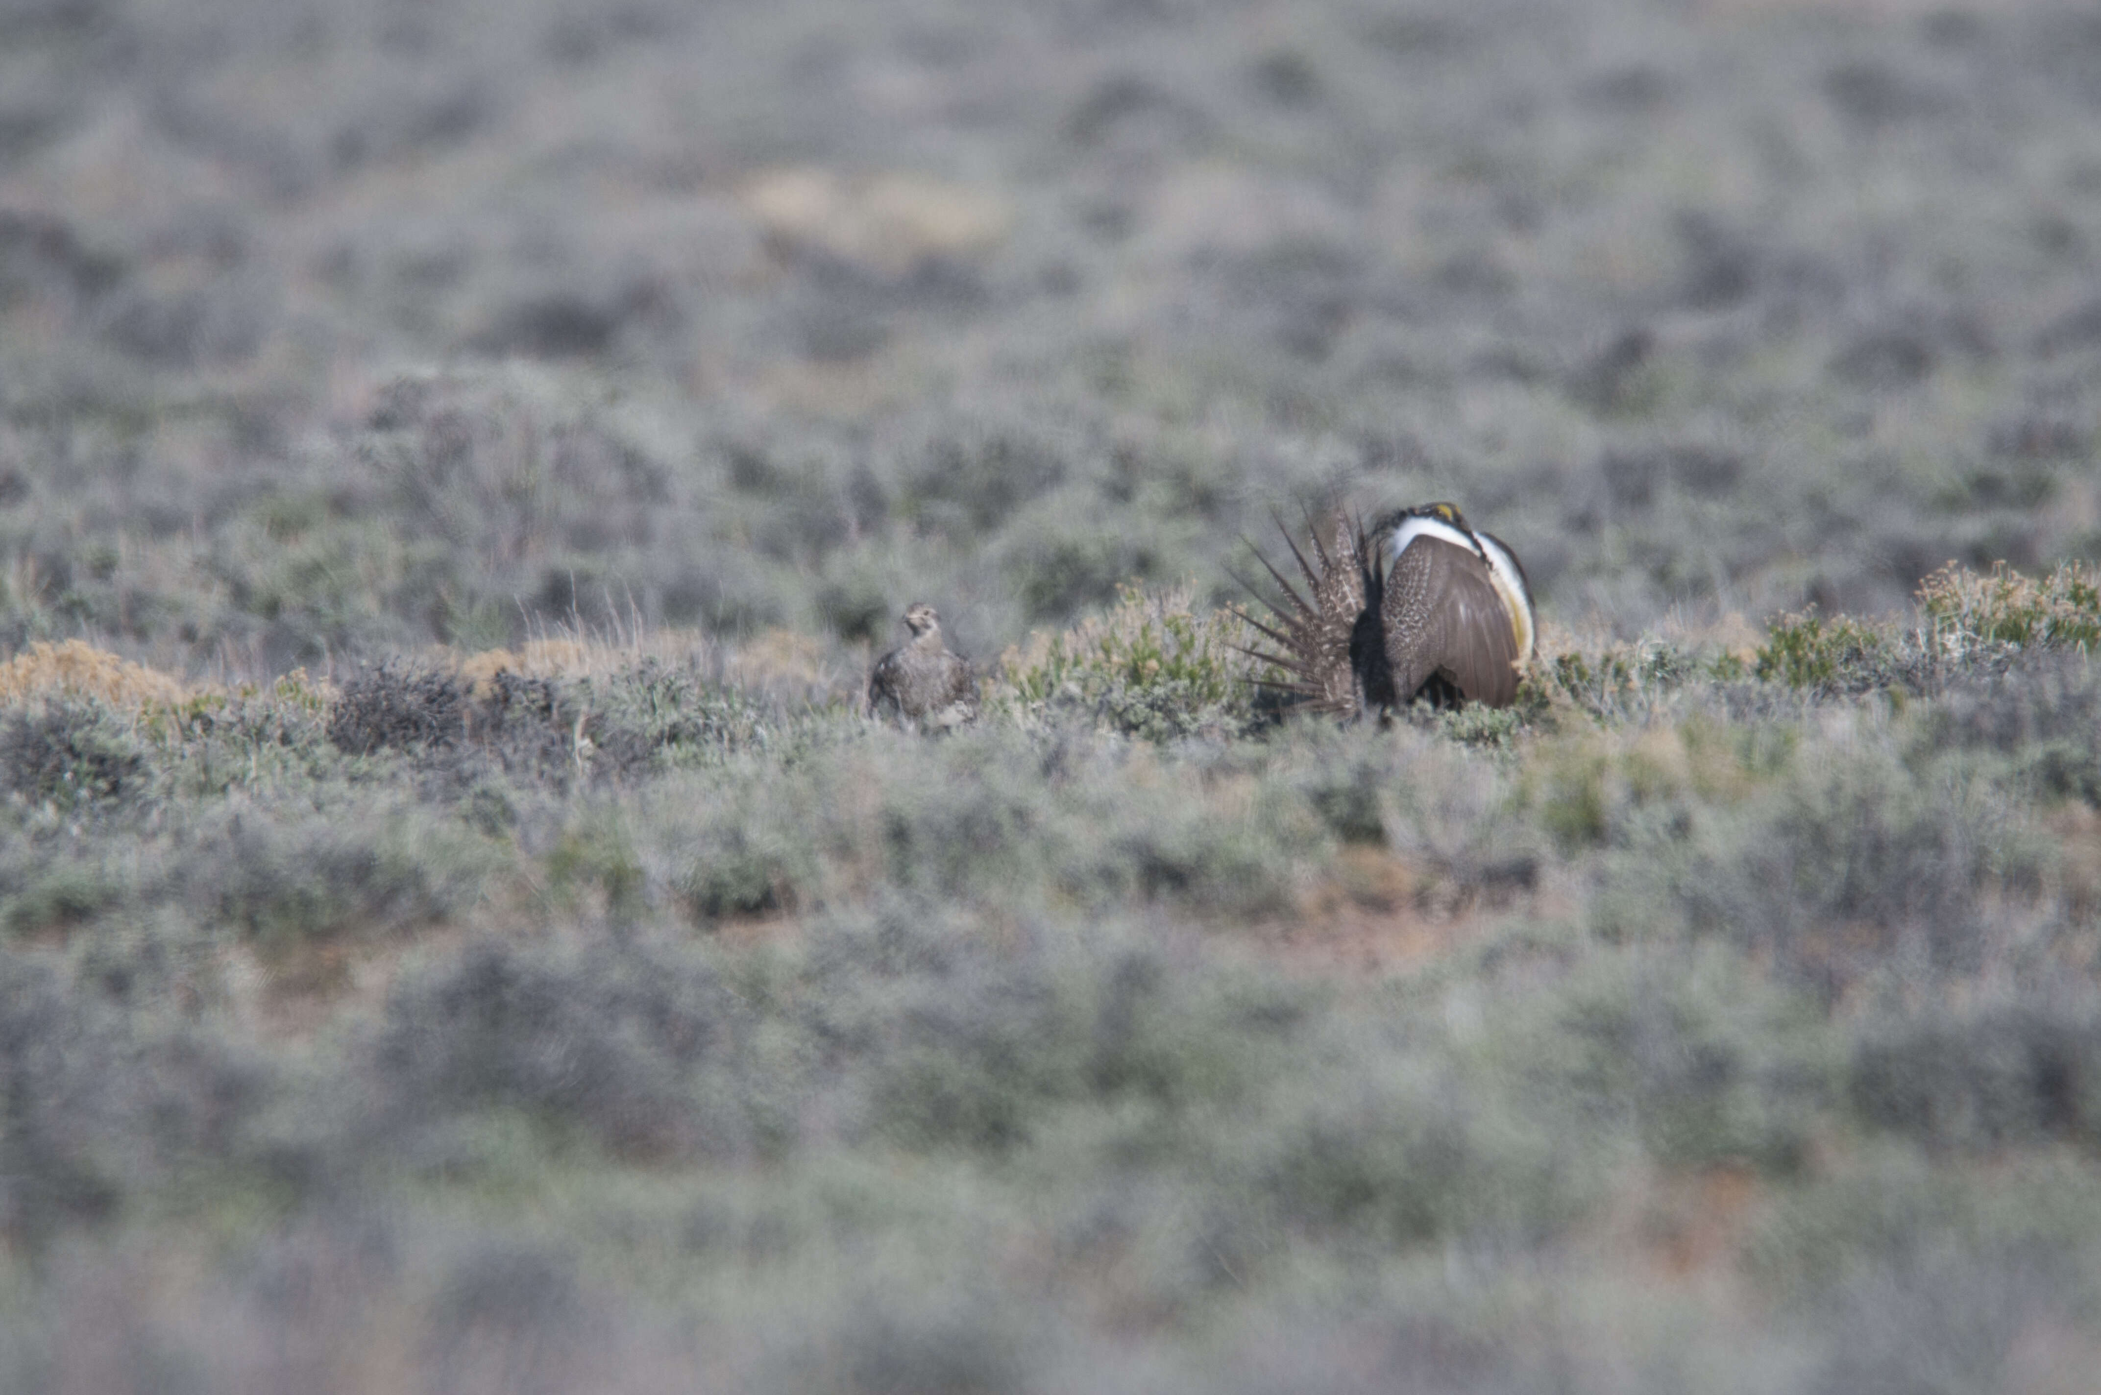
<instances>
[{"instance_id":1,"label":"brown mottled wing of the displaying male sage-grouse","mask_svg":"<svg viewBox=\"0 0 2101 1395\"><path fill-rule=\"evenodd\" d=\"M1433 674L1471 702L1517 700L1517 630L1479 555L1441 538L1410 542L1387 576L1382 622L1399 702Z\"/></svg>"}]
</instances>

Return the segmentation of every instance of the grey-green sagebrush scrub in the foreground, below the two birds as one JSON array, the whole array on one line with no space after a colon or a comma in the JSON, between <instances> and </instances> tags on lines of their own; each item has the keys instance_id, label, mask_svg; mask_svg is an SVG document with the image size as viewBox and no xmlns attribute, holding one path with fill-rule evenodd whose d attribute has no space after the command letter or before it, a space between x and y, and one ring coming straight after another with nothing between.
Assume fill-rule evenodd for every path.
<instances>
[{"instance_id":1,"label":"grey-green sagebrush scrub in the foreground, below the two birds","mask_svg":"<svg viewBox=\"0 0 2101 1395\"><path fill-rule=\"evenodd\" d=\"M1088 662L1158 672L1139 645ZM700 1321L752 1380L950 1370L962 1342L1025 1384L1139 1359L1099 1345L1139 1313L1143 1359L1202 1384L1210 1324L1303 1332L1326 1294L1382 1332L1399 1292L1494 1389L1555 1353L1664 1361L1639 1336L1660 1263L1763 1286L1801 1370L1855 1370L1859 1324L1897 1361L1983 1290L2074 1340L2090 1231L1977 1229L1956 1200L1815 1252L1801 1227L1864 1168L1967 1198L1969 1158L2072 1149L2051 1166L2093 1185L2090 1004L2063 981L2090 973L2090 905L2051 813L2084 798L2090 660L1904 702L1700 641L1582 662L1492 742L1443 719L1162 740L1078 702L918 740L639 651L523 676L422 655L143 716L17 704L124 761L8 813L0 1015L11 1088L46 1109L11 1132L8 1214L25 1254L71 1256L11 1311L99 1284L109 1330L223 1370L120 1275L214 1235L252 1252L223 1227L254 1193L267 1263L338 1286L307 1340L408 1321L391 1359L448 1372L508 1368L540 1321L689 1370L670 1334ZM1443 948L1336 973L1326 905ZM517 1189L565 1200L525 1225ZM389 1240L345 1252L336 1225ZM1914 1231L1931 1252L1893 1248ZM1466 1286L1435 1277L1454 1248ZM796 1277L872 1252L918 1277ZM658 1277L603 1277L637 1261ZM1616 1286L1534 1355L1420 1336L1494 1330L1578 1263ZM206 1269L204 1309L265 1303ZM798 1328L727 1317L782 1303ZM1685 1303L1729 1366L1740 1315ZM1937 1340L1996 1372L2002 1328ZM50 1332L11 1359L103 1340Z\"/></svg>"}]
</instances>

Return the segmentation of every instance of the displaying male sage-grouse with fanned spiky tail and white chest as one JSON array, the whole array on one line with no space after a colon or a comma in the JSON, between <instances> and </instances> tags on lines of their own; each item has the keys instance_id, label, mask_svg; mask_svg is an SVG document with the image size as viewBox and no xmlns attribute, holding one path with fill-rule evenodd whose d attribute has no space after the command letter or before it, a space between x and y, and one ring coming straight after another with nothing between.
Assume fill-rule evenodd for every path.
<instances>
[{"instance_id":1,"label":"displaying male sage-grouse with fanned spiky tail and white chest","mask_svg":"<svg viewBox=\"0 0 2101 1395\"><path fill-rule=\"evenodd\" d=\"M1269 683L1313 712L1378 712L1424 700L1506 708L1538 643L1525 569L1492 534L1452 504L1387 515L1370 529L1336 521L1334 550L1313 534L1319 567L1284 536L1309 595L1267 557L1284 586L1275 626L1250 622L1282 645L1250 649L1288 676ZM1256 553L1261 557L1261 553Z\"/></svg>"}]
</instances>

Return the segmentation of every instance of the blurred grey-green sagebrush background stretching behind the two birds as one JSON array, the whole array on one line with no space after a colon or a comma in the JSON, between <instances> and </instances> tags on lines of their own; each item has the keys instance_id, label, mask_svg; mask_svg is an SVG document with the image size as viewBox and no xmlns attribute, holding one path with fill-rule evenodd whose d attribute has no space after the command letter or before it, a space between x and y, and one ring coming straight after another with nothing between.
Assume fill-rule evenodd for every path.
<instances>
[{"instance_id":1,"label":"blurred grey-green sagebrush background stretching behind the two birds","mask_svg":"<svg viewBox=\"0 0 2101 1395\"><path fill-rule=\"evenodd\" d=\"M2080 6L8 0L0 624L981 651L1454 498L1551 613L2095 557Z\"/></svg>"}]
</instances>

